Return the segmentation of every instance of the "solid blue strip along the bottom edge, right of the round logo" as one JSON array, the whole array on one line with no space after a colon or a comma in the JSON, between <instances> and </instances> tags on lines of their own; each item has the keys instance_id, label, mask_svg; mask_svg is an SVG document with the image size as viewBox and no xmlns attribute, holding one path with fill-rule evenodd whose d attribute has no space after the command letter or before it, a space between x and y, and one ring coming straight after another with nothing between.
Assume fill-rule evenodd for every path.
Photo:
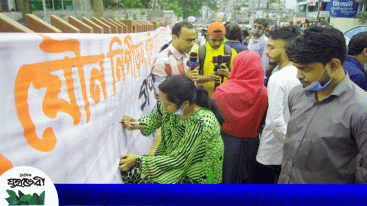
<instances>
[{"instance_id":1,"label":"solid blue strip along the bottom edge, right of the round logo","mask_svg":"<svg viewBox=\"0 0 367 206\"><path fill-rule=\"evenodd\" d=\"M55 184L60 205L367 205L365 185Z\"/></svg>"}]
</instances>

